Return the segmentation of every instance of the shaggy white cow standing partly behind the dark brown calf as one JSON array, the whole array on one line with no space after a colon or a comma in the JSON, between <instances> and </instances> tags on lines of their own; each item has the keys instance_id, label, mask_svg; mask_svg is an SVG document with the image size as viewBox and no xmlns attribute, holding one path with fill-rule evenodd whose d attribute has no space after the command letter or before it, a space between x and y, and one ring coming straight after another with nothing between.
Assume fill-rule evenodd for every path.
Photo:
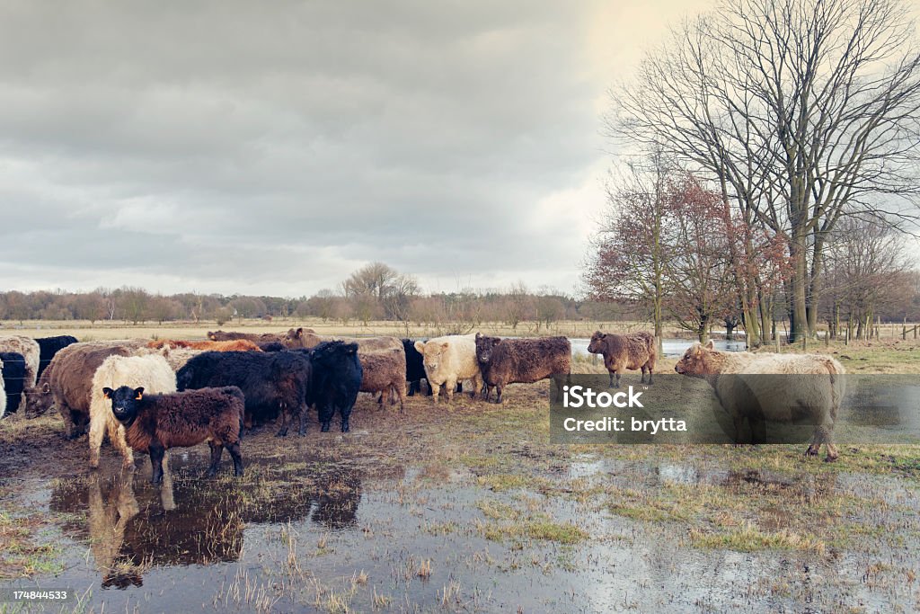
<instances>
[{"instance_id":1,"label":"shaggy white cow standing partly behind the dark brown calf","mask_svg":"<svg viewBox=\"0 0 920 614\"><path fill-rule=\"evenodd\" d=\"M121 466L134 466L131 448L124 440L124 429L109 411L111 403L102 394L103 388L143 387L151 393L175 392L176 374L160 354L146 356L109 356L93 375L92 396L89 400L89 467L99 466L99 447L106 433L109 443L121 452Z\"/></svg>"}]
</instances>

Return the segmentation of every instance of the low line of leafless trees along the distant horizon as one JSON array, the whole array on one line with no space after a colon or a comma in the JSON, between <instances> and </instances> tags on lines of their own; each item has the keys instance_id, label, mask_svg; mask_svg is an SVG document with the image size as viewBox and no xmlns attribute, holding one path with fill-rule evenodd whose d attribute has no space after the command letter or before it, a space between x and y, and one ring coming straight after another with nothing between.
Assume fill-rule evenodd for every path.
<instances>
[{"instance_id":1,"label":"low line of leafless trees along the distant horizon","mask_svg":"<svg viewBox=\"0 0 920 614\"><path fill-rule=\"evenodd\" d=\"M883 322L920 321L920 273L905 275L899 292L880 301L874 313ZM782 309L776 319L783 319ZM98 288L92 292L16 290L0 293L0 320L123 320L142 322L213 321L219 325L237 319L317 318L344 325L373 320L418 324L447 322L502 322L516 330L523 322L537 329L559 320L648 320L641 301L597 300L551 289L532 291L514 284L503 291L425 294L415 279L374 262L353 272L336 289L298 298L265 295L159 295L139 287ZM737 323L726 312L713 321L720 327Z\"/></svg>"}]
</instances>

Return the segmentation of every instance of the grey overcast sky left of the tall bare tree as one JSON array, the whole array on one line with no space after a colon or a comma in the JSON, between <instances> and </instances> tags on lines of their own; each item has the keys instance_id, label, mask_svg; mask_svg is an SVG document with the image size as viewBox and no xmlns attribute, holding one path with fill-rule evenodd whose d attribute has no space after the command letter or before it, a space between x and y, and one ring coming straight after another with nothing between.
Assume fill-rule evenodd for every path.
<instances>
[{"instance_id":1,"label":"grey overcast sky left of the tall bare tree","mask_svg":"<svg viewBox=\"0 0 920 614\"><path fill-rule=\"evenodd\" d=\"M6 0L0 288L572 292L605 90L707 6Z\"/></svg>"}]
</instances>

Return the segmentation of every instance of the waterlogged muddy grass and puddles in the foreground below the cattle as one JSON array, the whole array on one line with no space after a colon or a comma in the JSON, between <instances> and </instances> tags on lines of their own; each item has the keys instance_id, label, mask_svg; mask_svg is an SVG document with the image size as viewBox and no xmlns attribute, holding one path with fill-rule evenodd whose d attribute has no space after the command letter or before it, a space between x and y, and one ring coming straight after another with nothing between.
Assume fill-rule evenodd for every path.
<instances>
[{"instance_id":1,"label":"waterlogged muddy grass and puddles in the foreground below the cattle","mask_svg":"<svg viewBox=\"0 0 920 614\"><path fill-rule=\"evenodd\" d=\"M242 479L175 450L163 488L6 420L0 585L80 596L47 611L920 609L920 446L554 446L547 395L362 395L349 434L268 425Z\"/></svg>"}]
</instances>

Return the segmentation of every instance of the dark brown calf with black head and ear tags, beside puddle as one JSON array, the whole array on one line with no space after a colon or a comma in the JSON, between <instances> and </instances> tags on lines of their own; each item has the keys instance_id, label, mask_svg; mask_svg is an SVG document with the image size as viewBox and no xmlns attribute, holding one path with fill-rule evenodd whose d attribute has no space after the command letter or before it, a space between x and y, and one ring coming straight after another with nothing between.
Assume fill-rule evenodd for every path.
<instances>
[{"instance_id":1,"label":"dark brown calf with black head and ear tags, beside puddle","mask_svg":"<svg viewBox=\"0 0 920 614\"><path fill-rule=\"evenodd\" d=\"M150 454L151 483L163 481L163 456L171 447L211 446L211 466L217 474L224 446L233 458L234 475L243 475L239 451L245 400L235 386L201 388L171 394L145 395L144 388L102 388L111 413L124 428L128 445Z\"/></svg>"}]
</instances>

